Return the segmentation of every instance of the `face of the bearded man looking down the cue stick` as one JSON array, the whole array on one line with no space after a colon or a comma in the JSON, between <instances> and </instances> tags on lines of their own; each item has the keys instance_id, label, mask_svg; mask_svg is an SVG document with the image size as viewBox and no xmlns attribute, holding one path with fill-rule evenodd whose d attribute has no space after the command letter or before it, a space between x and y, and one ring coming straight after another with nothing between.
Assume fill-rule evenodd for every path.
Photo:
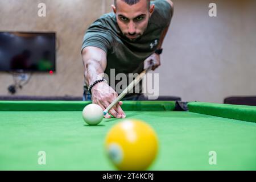
<instances>
[{"instance_id":1,"label":"face of the bearded man looking down the cue stick","mask_svg":"<svg viewBox=\"0 0 256 182\"><path fill-rule=\"evenodd\" d=\"M154 11L154 5L148 10L147 0L141 0L134 5L117 0L117 7L112 5L113 11L117 16L117 24L131 41L141 37L147 28L148 20Z\"/></svg>"}]
</instances>

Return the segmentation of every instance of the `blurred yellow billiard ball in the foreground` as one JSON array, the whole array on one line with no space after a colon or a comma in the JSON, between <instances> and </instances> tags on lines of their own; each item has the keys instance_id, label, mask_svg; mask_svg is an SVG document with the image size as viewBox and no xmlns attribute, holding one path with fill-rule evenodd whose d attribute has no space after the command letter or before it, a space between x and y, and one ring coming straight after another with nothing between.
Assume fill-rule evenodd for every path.
<instances>
[{"instance_id":1,"label":"blurred yellow billiard ball in the foreground","mask_svg":"<svg viewBox=\"0 0 256 182\"><path fill-rule=\"evenodd\" d=\"M119 170L146 170L156 158L158 138L146 122L124 119L106 135L105 150Z\"/></svg>"}]
</instances>

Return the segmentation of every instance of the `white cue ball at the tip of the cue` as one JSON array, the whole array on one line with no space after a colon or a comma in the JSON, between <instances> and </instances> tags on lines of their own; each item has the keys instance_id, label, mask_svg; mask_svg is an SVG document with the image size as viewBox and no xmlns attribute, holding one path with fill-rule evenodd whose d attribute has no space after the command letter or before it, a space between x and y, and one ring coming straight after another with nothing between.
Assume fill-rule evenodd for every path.
<instances>
[{"instance_id":1,"label":"white cue ball at the tip of the cue","mask_svg":"<svg viewBox=\"0 0 256 182\"><path fill-rule=\"evenodd\" d=\"M82 118L88 125L98 125L103 119L103 110L97 104L89 104L82 110Z\"/></svg>"}]
</instances>

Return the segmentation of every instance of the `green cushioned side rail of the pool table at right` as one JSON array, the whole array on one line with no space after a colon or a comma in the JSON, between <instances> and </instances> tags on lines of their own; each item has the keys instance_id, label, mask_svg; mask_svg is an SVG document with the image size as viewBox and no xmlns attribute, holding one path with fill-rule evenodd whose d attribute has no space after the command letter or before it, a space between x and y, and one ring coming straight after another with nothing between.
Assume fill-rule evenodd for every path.
<instances>
[{"instance_id":1,"label":"green cushioned side rail of the pool table at right","mask_svg":"<svg viewBox=\"0 0 256 182\"><path fill-rule=\"evenodd\" d=\"M256 122L256 106L189 102L188 108L195 113Z\"/></svg>"}]
</instances>

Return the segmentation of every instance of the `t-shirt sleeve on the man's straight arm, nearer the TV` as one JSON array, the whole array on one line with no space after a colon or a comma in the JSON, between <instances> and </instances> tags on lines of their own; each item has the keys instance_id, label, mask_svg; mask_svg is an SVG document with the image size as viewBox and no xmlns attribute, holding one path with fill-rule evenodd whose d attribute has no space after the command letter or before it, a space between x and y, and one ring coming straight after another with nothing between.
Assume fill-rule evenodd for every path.
<instances>
[{"instance_id":1,"label":"t-shirt sleeve on the man's straight arm, nearer the TV","mask_svg":"<svg viewBox=\"0 0 256 182\"><path fill-rule=\"evenodd\" d=\"M104 30L104 28L101 27L90 26L85 32L82 49L88 46L94 46L108 52L111 42L112 36L110 36L108 30Z\"/></svg>"}]
</instances>

